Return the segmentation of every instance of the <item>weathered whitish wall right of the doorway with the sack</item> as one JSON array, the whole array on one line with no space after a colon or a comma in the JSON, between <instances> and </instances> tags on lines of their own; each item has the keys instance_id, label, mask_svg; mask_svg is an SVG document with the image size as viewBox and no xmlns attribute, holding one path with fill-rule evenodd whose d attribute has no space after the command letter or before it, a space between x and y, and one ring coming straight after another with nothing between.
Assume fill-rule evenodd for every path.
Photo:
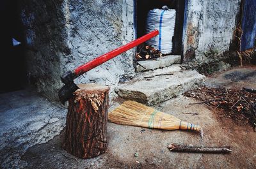
<instances>
[{"instance_id":1,"label":"weathered whitish wall right of the doorway with the sack","mask_svg":"<svg viewBox=\"0 0 256 169\"><path fill-rule=\"evenodd\" d=\"M241 0L189 0L185 60L202 59L211 48L224 52L230 47Z\"/></svg>"}]
</instances>

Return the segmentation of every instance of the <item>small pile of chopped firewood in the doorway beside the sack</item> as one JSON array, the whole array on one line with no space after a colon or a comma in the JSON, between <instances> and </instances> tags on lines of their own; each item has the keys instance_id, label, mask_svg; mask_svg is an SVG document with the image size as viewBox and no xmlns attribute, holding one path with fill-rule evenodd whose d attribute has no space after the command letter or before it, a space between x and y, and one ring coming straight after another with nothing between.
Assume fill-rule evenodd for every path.
<instances>
[{"instance_id":1,"label":"small pile of chopped firewood in the doorway beside the sack","mask_svg":"<svg viewBox=\"0 0 256 169\"><path fill-rule=\"evenodd\" d=\"M158 57L162 57L161 51L150 45L140 45L138 48L139 52L136 54L137 61L145 61L147 59L156 59Z\"/></svg>"}]
</instances>

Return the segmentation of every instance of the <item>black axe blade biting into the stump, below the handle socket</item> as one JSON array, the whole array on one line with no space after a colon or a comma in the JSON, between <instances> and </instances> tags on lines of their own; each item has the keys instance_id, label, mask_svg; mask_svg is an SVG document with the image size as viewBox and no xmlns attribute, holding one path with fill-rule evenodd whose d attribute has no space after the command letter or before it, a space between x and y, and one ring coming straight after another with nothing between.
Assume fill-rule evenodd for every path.
<instances>
[{"instance_id":1,"label":"black axe blade biting into the stump, below the handle socket","mask_svg":"<svg viewBox=\"0 0 256 169\"><path fill-rule=\"evenodd\" d=\"M70 99L73 96L73 92L75 92L77 89L79 89L79 87L73 81L61 87L60 91L58 92L61 103L64 105L65 101Z\"/></svg>"}]
</instances>

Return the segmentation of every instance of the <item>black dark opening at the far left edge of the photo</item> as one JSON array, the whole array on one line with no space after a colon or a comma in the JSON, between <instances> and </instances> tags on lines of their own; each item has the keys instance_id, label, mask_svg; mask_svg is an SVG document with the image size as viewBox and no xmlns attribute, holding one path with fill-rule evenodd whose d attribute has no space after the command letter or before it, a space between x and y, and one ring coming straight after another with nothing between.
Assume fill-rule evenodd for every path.
<instances>
[{"instance_id":1,"label":"black dark opening at the far left edge of the photo","mask_svg":"<svg viewBox=\"0 0 256 169\"><path fill-rule=\"evenodd\" d=\"M1 1L0 93L23 89L26 85L24 40L18 9L17 0Z\"/></svg>"}]
</instances>

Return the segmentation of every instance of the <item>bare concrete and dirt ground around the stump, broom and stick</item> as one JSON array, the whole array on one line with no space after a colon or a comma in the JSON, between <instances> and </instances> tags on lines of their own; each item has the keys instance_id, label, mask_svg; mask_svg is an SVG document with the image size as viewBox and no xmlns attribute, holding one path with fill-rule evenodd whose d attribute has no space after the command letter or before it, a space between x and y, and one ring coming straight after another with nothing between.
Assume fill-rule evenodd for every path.
<instances>
[{"instance_id":1,"label":"bare concrete and dirt ground around the stump, broom and stick","mask_svg":"<svg viewBox=\"0 0 256 169\"><path fill-rule=\"evenodd\" d=\"M234 68L207 77L205 84L253 87L255 80L256 67ZM121 102L122 99L113 99L110 110ZM256 133L252 127L236 124L218 109L203 104L189 105L197 102L200 101L179 96L154 107L200 124L204 128L203 139L199 133L189 131L163 131L108 122L108 152L93 159L79 159L61 148L65 108L29 91L1 94L1 168L256 168ZM168 143L230 145L232 152L170 152ZM138 157L134 156L136 152Z\"/></svg>"}]
</instances>

